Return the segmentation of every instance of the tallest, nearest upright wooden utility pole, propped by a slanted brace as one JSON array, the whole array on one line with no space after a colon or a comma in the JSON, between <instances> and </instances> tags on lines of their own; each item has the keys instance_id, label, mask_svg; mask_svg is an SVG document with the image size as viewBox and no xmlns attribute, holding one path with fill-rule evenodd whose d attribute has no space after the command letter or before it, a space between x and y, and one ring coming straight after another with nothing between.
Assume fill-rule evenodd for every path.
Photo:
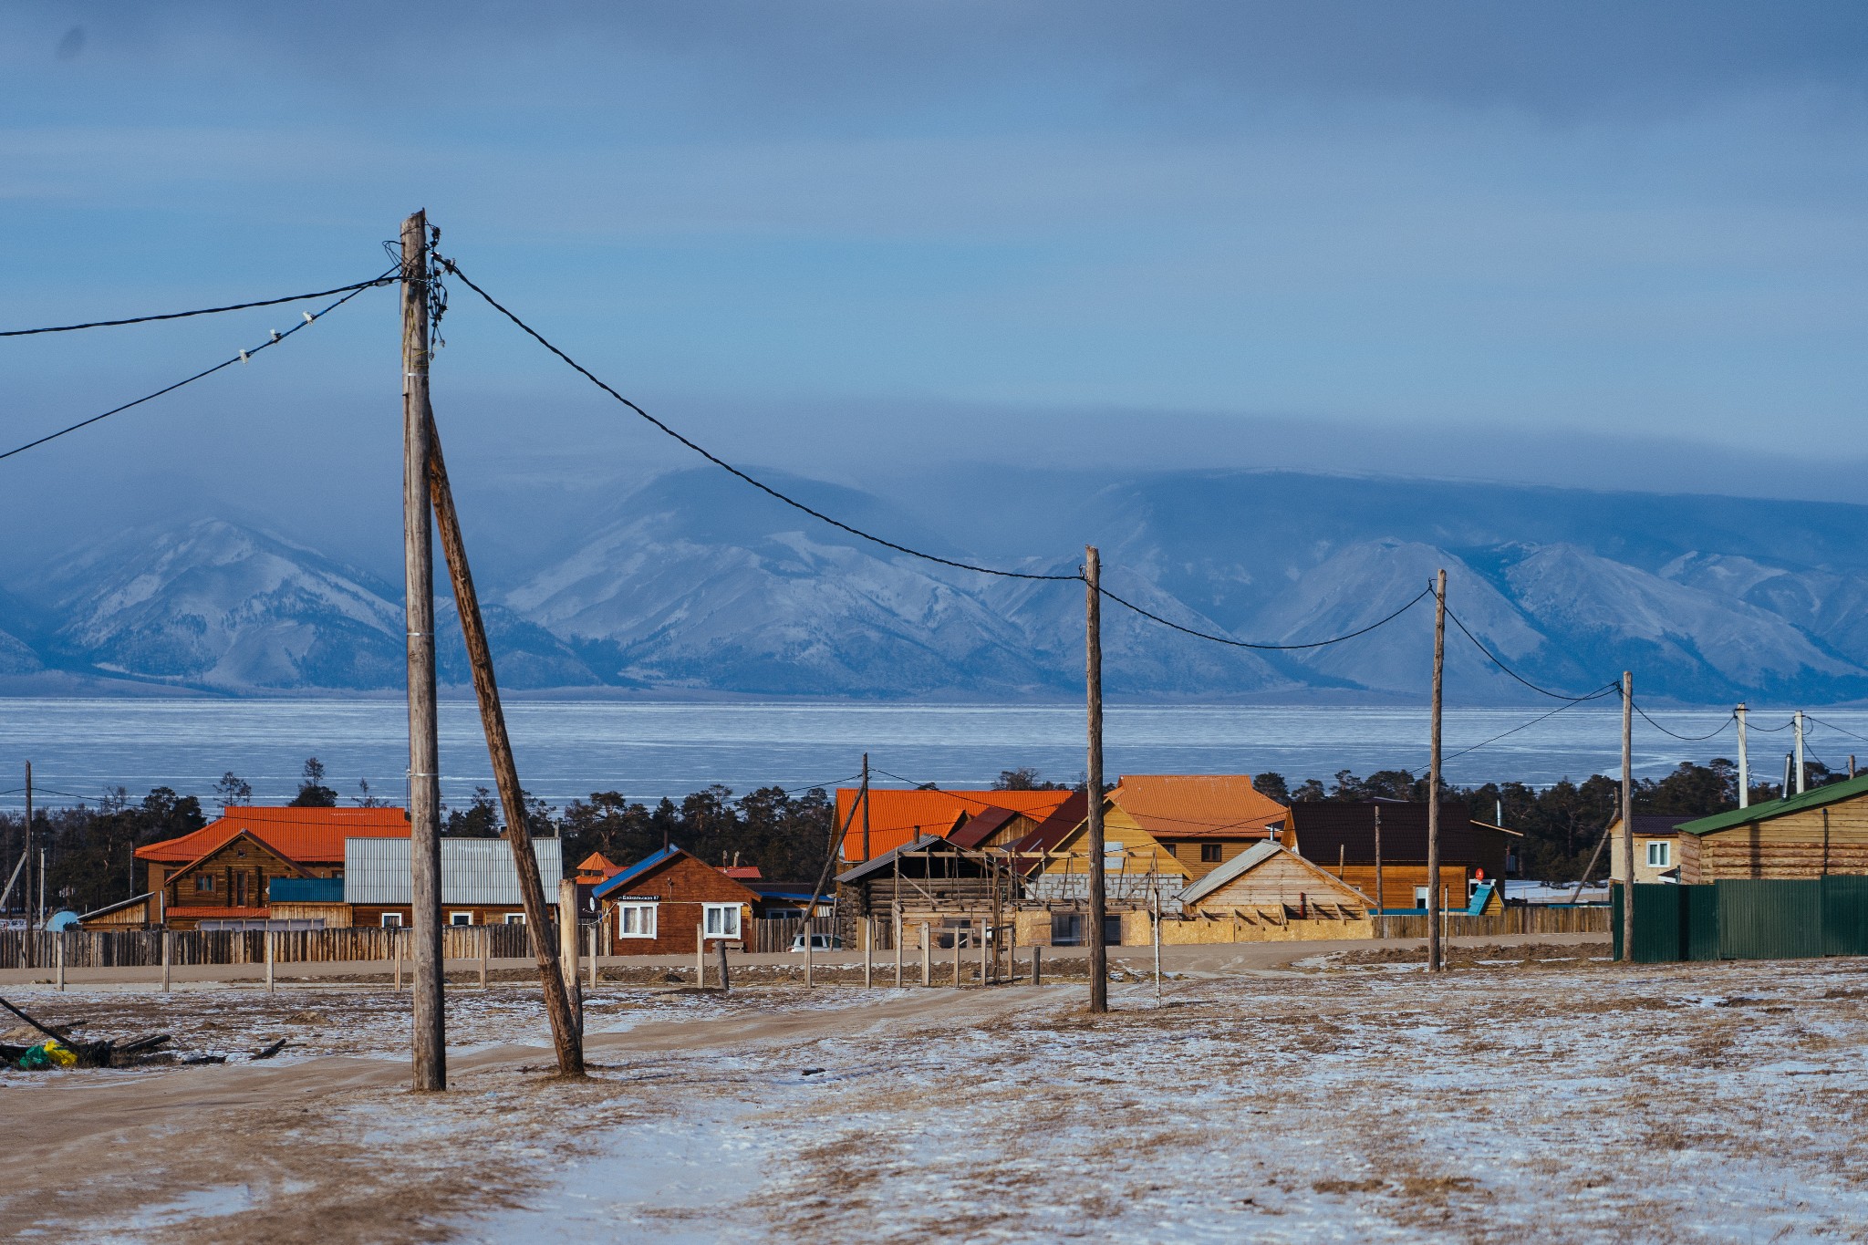
<instances>
[{"instance_id":1,"label":"tallest, nearest upright wooden utility pole, propped by a slanted brace","mask_svg":"<svg viewBox=\"0 0 1868 1245\"><path fill-rule=\"evenodd\" d=\"M402 571L409 663L409 885L415 1088L448 1088L441 965L441 741L435 726L435 547L428 500L428 213L402 222Z\"/></svg>"}]
</instances>

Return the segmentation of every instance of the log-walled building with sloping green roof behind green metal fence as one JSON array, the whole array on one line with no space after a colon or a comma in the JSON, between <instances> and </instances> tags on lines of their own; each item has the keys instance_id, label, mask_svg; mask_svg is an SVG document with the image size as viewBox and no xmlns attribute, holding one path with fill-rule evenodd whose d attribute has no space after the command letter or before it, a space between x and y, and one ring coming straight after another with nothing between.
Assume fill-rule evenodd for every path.
<instances>
[{"instance_id":1,"label":"log-walled building with sloping green roof behind green metal fence","mask_svg":"<svg viewBox=\"0 0 1868 1245\"><path fill-rule=\"evenodd\" d=\"M1683 821L1676 834L1689 885L1868 874L1868 775Z\"/></svg>"}]
</instances>

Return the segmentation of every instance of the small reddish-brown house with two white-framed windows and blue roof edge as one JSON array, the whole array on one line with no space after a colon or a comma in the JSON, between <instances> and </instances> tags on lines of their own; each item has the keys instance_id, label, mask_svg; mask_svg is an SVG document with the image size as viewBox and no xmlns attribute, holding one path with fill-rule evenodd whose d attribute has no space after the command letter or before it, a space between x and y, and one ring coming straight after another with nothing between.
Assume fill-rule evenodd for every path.
<instances>
[{"instance_id":1,"label":"small reddish-brown house with two white-framed windows and blue roof edge","mask_svg":"<svg viewBox=\"0 0 1868 1245\"><path fill-rule=\"evenodd\" d=\"M719 868L667 846L592 890L613 956L693 954L706 941L745 950L762 896Z\"/></svg>"}]
</instances>

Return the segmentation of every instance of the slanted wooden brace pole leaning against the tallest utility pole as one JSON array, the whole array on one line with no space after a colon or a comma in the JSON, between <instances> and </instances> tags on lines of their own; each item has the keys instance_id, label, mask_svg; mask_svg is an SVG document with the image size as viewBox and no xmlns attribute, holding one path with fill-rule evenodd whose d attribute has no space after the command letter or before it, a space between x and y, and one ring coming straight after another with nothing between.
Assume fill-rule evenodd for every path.
<instances>
[{"instance_id":1,"label":"slanted wooden brace pole leaning against the tallest utility pole","mask_svg":"<svg viewBox=\"0 0 1868 1245\"><path fill-rule=\"evenodd\" d=\"M551 909L545 905L545 883L538 875L538 857L532 853L531 823L525 816L525 795L519 791L519 767L512 760L512 739L506 737L506 715L499 706L499 683L493 681L493 650L486 642L486 622L480 618L480 597L467 569L467 543L461 539L460 515L454 511L454 489L448 487L446 461L441 457L441 435L428 418L428 474L435 502L435 525L441 530L441 551L448 560L448 579L454 584L454 607L460 612L461 638L467 642L467 661L473 666L473 691L480 700L480 726L486 730L486 750L493 760L493 780L499 786L501 810L506 814L506 844L519 875L519 902L525 924L532 928L532 954L538 958L538 980L545 991L545 1015L551 1019L551 1045L557 1049L559 1073L583 1075L583 1034L572 1012L570 991L559 967L559 948L545 931L551 928Z\"/></svg>"}]
</instances>

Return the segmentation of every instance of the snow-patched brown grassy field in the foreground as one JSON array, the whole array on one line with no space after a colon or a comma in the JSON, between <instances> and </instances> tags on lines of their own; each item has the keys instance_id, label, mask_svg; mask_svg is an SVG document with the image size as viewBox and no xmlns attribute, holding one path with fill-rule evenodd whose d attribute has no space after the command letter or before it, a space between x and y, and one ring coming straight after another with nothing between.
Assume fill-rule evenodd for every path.
<instances>
[{"instance_id":1,"label":"snow-patched brown grassy field in the foreground","mask_svg":"<svg viewBox=\"0 0 1868 1245\"><path fill-rule=\"evenodd\" d=\"M1113 986L1100 1019L1080 982L611 989L575 1086L501 1047L544 1030L495 989L456 995L456 1092L422 1098L383 991L177 995L224 999L235 1051L319 1021L291 1021L306 1040L276 1066L7 1075L0 1118L43 1163L9 1163L0 1215L28 1239L191 1241L1868 1234L1868 963L1592 952L1190 971L1160 1000ZM112 1006L49 1010L108 1027ZM194 1107L185 1129L125 1111L163 1096ZM58 1118L93 1189L134 1198L35 1195Z\"/></svg>"}]
</instances>

